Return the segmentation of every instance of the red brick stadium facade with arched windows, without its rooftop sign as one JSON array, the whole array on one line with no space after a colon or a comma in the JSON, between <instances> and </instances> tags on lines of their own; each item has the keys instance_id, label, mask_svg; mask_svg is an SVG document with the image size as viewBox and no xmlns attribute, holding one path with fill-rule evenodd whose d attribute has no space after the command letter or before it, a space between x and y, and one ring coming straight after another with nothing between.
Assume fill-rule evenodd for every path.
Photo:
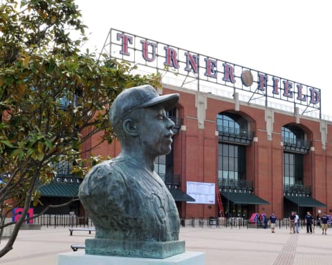
<instances>
[{"instance_id":1,"label":"red brick stadium facade with arched windows, without its rooftop sign","mask_svg":"<svg viewBox=\"0 0 332 265\"><path fill-rule=\"evenodd\" d=\"M332 137L322 135L331 124L164 85L163 94L174 92L181 96L173 151L156 161L156 171L171 190L184 193L175 197L181 217L219 212L217 199L185 202L187 181L219 186L226 215L274 211L284 217L297 204L300 216L332 208ZM98 150L112 157L119 152L118 143Z\"/></svg>"}]
</instances>

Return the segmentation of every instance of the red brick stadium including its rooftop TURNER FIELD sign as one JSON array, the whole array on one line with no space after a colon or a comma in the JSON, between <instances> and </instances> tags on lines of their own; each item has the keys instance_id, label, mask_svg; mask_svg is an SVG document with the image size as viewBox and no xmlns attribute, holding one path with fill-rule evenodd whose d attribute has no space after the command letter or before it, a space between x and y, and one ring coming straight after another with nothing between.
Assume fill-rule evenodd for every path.
<instances>
[{"instance_id":1,"label":"red brick stadium including its rooftop TURNER FIELD sign","mask_svg":"<svg viewBox=\"0 0 332 265\"><path fill-rule=\"evenodd\" d=\"M320 111L320 89L119 30L107 40L110 56L162 72L160 95L180 94L168 113L172 153L155 170L181 217L331 215L332 123ZM117 141L93 150L119 152Z\"/></svg>"}]
</instances>

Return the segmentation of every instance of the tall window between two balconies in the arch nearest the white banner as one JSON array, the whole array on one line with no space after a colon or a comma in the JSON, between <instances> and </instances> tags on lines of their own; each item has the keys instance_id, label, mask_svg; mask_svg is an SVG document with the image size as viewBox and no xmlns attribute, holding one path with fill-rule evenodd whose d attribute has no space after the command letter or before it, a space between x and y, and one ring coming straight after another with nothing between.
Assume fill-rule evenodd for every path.
<instances>
[{"instance_id":1,"label":"tall window between two balconies in the arch nearest the white banner","mask_svg":"<svg viewBox=\"0 0 332 265\"><path fill-rule=\"evenodd\" d=\"M219 143L218 178L246 179L246 147Z\"/></svg>"}]
</instances>

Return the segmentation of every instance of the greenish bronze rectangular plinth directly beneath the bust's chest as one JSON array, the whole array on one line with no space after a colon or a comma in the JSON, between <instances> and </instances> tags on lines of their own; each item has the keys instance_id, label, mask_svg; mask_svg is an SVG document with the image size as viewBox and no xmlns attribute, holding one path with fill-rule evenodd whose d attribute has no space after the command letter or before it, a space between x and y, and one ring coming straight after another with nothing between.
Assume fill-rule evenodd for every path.
<instances>
[{"instance_id":1,"label":"greenish bronze rectangular plinth directly beneath the bust's chest","mask_svg":"<svg viewBox=\"0 0 332 265\"><path fill-rule=\"evenodd\" d=\"M131 242L90 238L85 240L85 253L120 257L165 259L185 252L185 241Z\"/></svg>"}]
</instances>

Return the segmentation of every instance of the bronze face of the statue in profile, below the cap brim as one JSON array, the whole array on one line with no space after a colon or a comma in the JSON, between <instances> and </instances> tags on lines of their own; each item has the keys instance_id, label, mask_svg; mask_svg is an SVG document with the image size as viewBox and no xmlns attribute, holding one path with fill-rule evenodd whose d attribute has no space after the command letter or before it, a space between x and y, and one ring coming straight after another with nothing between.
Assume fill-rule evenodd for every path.
<instances>
[{"instance_id":1,"label":"bronze face of the statue in profile, below the cap brim","mask_svg":"<svg viewBox=\"0 0 332 265\"><path fill-rule=\"evenodd\" d=\"M140 140L148 155L166 155L171 152L174 122L166 117L163 106L142 109L139 122Z\"/></svg>"}]
</instances>

